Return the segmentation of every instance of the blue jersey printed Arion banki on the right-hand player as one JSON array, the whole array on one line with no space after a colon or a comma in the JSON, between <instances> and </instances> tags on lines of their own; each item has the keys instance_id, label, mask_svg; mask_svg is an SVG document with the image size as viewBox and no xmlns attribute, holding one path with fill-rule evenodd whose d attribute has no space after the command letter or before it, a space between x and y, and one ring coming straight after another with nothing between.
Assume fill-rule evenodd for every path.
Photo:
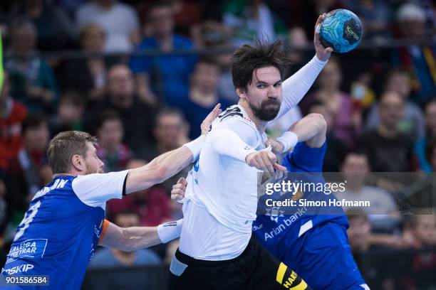
<instances>
[{"instance_id":1,"label":"blue jersey printed Arion banki on the right-hand player","mask_svg":"<svg viewBox=\"0 0 436 290\"><path fill-rule=\"evenodd\" d=\"M294 151L286 154L282 164L291 173L305 173L298 176L298 178L306 178L306 182L325 182L321 174L325 153L326 144L323 144L321 148L310 148L306 143L299 142ZM304 198L307 200L336 198L333 194L304 194ZM294 215L257 215L256 220L253 222L253 232L257 240L269 252L276 257L283 257L288 250L292 250L292 243L295 240L311 228L326 221L336 222L346 227L349 226L342 208L299 207L296 208Z\"/></svg>"}]
</instances>

